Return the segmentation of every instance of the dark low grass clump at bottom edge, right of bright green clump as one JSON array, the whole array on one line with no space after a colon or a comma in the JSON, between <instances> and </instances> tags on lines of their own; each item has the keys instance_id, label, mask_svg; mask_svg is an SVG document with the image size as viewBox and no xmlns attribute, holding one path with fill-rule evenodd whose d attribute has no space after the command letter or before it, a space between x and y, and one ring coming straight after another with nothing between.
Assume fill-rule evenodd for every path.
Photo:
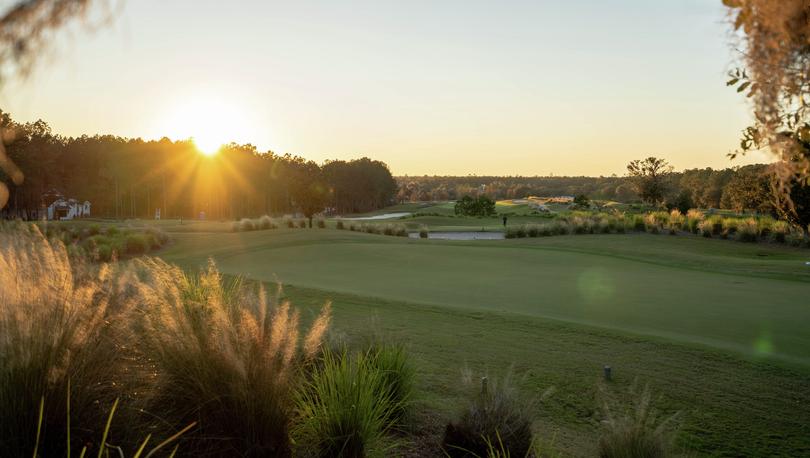
<instances>
[{"instance_id":1,"label":"dark low grass clump at bottom edge, right of bright green clump","mask_svg":"<svg viewBox=\"0 0 810 458\"><path fill-rule=\"evenodd\" d=\"M511 372L500 384L483 378L459 420L445 428L444 452L450 457L487 456L492 444L501 444L509 456L528 456L534 404L518 396Z\"/></svg>"}]
</instances>

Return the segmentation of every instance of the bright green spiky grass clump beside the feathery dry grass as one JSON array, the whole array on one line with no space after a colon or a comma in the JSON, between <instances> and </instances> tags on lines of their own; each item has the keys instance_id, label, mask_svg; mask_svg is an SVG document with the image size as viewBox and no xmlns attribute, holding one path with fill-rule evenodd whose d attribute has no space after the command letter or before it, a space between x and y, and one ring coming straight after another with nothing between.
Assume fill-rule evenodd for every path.
<instances>
[{"instance_id":1,"label":"bright green spiky grass clump beside the feathery dry grass","mask_svg":"<svg viewBox=\"0 0 810 458\"><path fill-rule=\"evenodd\" d=\"M317 456L381 453L393 427L392 396L366 354L325 351L312 379L296 394L296 442Z\"/></svg>"}]
</instances>

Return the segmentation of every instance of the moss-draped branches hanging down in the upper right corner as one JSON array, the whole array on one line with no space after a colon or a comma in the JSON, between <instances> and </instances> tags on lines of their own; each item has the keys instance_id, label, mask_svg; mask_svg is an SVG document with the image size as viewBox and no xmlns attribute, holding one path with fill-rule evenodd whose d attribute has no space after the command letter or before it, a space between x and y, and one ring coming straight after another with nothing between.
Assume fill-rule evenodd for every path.
<instances>
[{"instance_id":1,"label":"moss-draped branches hanging down in the upper right corner","mask_svg":"<svg viewBox=\"0 0 810 458\"><path fill-rule=\"evenodd\" d=\"M810 185L810 3L807 0L723 0L742 43L728 86L753 101L754 124L743 131L738 153L767 148L779 159L776 198L796 215L794 184ZM733 153L734 157L738 153Z\"/></svg>"}]
</instances>

